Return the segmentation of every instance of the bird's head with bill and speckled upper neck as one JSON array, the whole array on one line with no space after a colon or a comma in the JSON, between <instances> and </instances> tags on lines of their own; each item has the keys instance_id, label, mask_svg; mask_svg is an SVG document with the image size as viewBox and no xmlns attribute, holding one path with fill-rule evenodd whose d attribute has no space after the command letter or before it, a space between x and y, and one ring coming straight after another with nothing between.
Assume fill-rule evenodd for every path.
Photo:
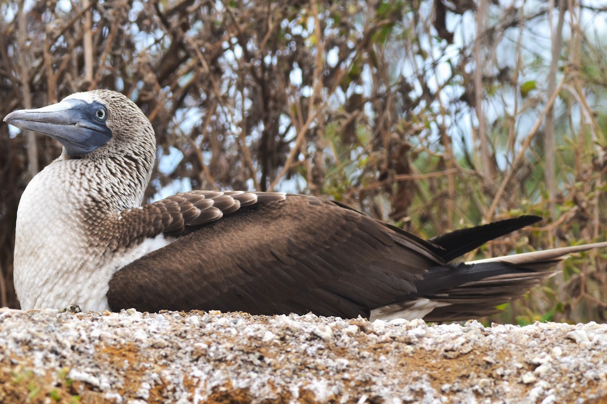
<instances>
[{"instance_id":1,"label":"bird's head with bill and speckled upper neck","mask_svg":"<svg viewBox=\"0 0 607 404\"><path fill-rule=\"evenodd\" d=\"M148 118L123 94L75 93L47 107L14 111L4 121L63 144L63 154L46 169L54 171L48 175L57 186L70 184L75 195L87 195L100 207L124 209L141 202L154 167L155 134Z\"/></svg>"}]
</instances>

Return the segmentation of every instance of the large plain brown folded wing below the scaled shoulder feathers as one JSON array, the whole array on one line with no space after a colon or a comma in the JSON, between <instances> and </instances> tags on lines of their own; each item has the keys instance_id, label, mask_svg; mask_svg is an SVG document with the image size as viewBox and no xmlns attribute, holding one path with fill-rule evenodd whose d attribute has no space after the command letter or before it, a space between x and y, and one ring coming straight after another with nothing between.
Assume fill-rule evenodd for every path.
<instances>
[{"instance_id":1,"label":"large plain brown folded wing below the scaled shoulder feathers","mask_svg":"<svg viewBox=\"0 0 607 404\"><path fill-rule=\"evenodd\" d=\"M173 221L164 233L192 223L183 217L185 227ZM204 220L118 271L107 294L112 309L368 316L415 293L413 282L441 263L418 239L315 197L289 195Z\"/></svg>"}]
</instances>

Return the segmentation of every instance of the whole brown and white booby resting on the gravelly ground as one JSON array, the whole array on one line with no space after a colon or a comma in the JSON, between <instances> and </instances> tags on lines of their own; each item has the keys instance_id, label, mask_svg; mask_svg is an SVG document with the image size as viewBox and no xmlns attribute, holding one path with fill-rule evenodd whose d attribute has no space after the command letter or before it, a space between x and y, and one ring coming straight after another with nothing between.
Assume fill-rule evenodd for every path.
<instances>
[{"instance_id":1,"label":"whole brown and white booby resting on the gravelly ground","mask_svg":"<svg viewBox=\"0 0 607 404\"><path fill-rule=\"evenodd\" d=\"M24 310L461 320L494 313L554 274L566 254L607 245L450 263L540 217L425 240L304 195L191 191L141 205L155 134L123 94L76 93L4 121L63 144L19 203L14 277Z\"/></svg>"}]
</instances>

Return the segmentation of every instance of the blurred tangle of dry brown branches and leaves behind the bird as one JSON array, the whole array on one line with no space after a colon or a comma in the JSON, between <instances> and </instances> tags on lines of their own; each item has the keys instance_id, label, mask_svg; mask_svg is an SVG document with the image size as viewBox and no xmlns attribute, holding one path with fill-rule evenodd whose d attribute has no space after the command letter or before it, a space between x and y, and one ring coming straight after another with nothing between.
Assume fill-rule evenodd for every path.
<instances>
[{"instance_id":1,"label":"blurred tangle of dry brown branches and leaves behind the bird","mask_svg":"<svg viewBox=\"0 0 607 404\"><path fill-rule=\"evenodd\" d=\"M605 2L47 0L0 16L0 116L127 94L157 133L148 200L324 195L424 237L546 217L467 259L605 240ZM3 306L18 307L19 197L60 153L0 125ZM484 320L604 321L606 254Z\"/></svg>"}]
</instances>

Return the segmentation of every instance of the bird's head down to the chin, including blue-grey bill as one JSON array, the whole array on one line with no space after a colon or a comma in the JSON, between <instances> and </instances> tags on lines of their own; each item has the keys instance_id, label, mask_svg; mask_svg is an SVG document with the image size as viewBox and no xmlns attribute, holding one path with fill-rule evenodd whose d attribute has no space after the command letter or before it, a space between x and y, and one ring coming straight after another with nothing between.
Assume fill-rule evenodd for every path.
<instances>
[{"instance_id":1,"label":"bird's head down to the chin, including blue-grey bill","mask_svg":"<svg viewBox=\"0 0 607 404\"><path fill-rule=\"evenodd\" d=\"M75 93L48 107L14 111L4 122L57 139L63 144L64 159L134 151L151 154L154 163L152 125L134 102L115 91Z\"/></svg>"}]
</instances>

